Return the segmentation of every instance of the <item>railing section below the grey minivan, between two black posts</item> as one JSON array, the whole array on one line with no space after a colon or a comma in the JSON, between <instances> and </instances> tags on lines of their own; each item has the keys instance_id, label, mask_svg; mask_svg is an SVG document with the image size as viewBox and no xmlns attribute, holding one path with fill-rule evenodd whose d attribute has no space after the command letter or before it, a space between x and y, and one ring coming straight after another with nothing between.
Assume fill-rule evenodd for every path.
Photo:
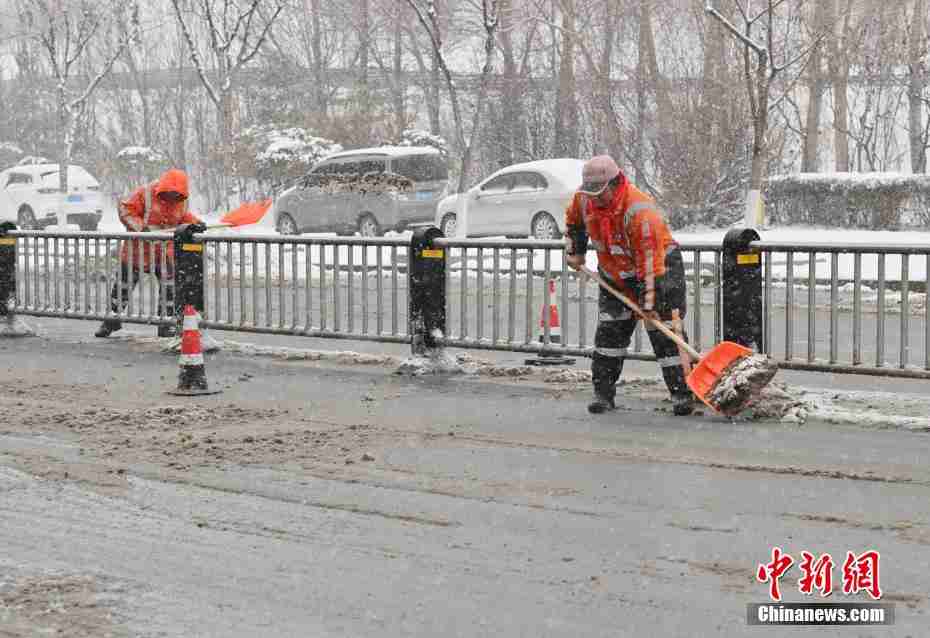
<instances>
[{"instance_id":1,"label":"railing section below the grey minivan, between two black posts","mask_svg":"<svg viewBox=\"0 0 930 638\"><path fill-rule=\"evenodd\" d=\"M404 343L404 238L202 235L207 327Z\"/></svg>"}]
</instances>

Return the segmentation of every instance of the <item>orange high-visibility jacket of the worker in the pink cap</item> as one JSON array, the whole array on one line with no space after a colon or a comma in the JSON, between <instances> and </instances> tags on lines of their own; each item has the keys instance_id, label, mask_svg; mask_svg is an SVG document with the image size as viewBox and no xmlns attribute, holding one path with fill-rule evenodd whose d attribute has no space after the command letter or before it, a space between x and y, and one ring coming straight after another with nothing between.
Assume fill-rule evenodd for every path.
<instances>
[{"instance_id":1,"label":"orange high-visibility jacket of the worker in the pink cap","mask_svg":"<svg viewBox=\"0 0 930 638\"><path fill-rule=\"evenodd\" d=\"M583 226L597 251L598 267L621 287L642 282L643 310L656 304L656 279L665 275L665 256L678 247L655 201L624 179L606 207L575 193L565 211L565 226ZM574 253L571 247L569 253Z\"/></svg>"}]
</instances>

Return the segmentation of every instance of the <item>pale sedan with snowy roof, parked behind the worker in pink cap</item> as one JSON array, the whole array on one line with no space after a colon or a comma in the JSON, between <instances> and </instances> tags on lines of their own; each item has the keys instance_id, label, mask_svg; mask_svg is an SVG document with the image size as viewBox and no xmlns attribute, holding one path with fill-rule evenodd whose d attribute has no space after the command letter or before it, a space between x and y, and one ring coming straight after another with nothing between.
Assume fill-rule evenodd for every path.
<instances>
[{"instance_id":1,"label":"pale sedan with snowy roof, parked behind the worker in pink cap","mask_svg":"<svg viewBox=\"0 0 930 638\"><path fill-rule=\"evenodd\" d=\"M563 158L502 168L467 192L441 200L436 226L446 237L455 236L467 203L469 237L559 239L565 232L565 209L581 185L583 165L583 160Z\"/></svg>"}]
</instances>

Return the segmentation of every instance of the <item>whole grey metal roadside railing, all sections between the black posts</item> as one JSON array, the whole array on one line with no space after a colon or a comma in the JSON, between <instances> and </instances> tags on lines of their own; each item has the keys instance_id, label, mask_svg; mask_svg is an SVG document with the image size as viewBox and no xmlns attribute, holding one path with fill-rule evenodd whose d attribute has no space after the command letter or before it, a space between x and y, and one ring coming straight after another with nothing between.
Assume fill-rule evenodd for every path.
<instances>
[{"instance_id":1,"label":"whole grey metal roadside railing, all sections between the black posts","mask_svg":"<svg viewBox=\"0 0 930 638\"><path fill-rule=\"evenodd\" d=\"M77 319L170 323L167 247L156 233L13 231L13 312ZM405 237L282 237L204 233L200 282L206 327L242 332L405 343L410 240ZM137 240L129 242L128 240ZM158 246L125 308L110 291L121 276L119 246ZM598 289L565 268L562 242L440 238L448 346L587 356ZM757 241L764 301L759 349L786 368L930 378L930 245L786 244ZM707 349L726 335L724 253L683 243L686 329ZM156 270L149 268L148 270ZM554 285L550 288L550 282ZM554 290L551 292L550 290ZM550 304L560 325L541 321ZM650 360L637 330L631 358Z\"/></svg>"}]
</instances>

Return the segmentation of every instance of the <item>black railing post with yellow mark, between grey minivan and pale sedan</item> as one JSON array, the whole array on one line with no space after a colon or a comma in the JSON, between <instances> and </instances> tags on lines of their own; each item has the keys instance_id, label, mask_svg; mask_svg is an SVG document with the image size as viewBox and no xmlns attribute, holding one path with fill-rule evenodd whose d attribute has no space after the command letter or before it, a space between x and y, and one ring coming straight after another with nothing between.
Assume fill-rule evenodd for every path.
<instances>
[{"instance_id":1,"label":"black railing post with yellow mark, between grey minivan and pale sedan","mask_svg":"<svg viewBox=\"0 0 930 638\"><path fill-rule=\"evenodd\" d=\"M438 346L446 334L446 255L433 245L443 237L434 226L417 228L410 239L407 281L410 298L410 346L414 355Z\"/></svg>"}]
</instances>

